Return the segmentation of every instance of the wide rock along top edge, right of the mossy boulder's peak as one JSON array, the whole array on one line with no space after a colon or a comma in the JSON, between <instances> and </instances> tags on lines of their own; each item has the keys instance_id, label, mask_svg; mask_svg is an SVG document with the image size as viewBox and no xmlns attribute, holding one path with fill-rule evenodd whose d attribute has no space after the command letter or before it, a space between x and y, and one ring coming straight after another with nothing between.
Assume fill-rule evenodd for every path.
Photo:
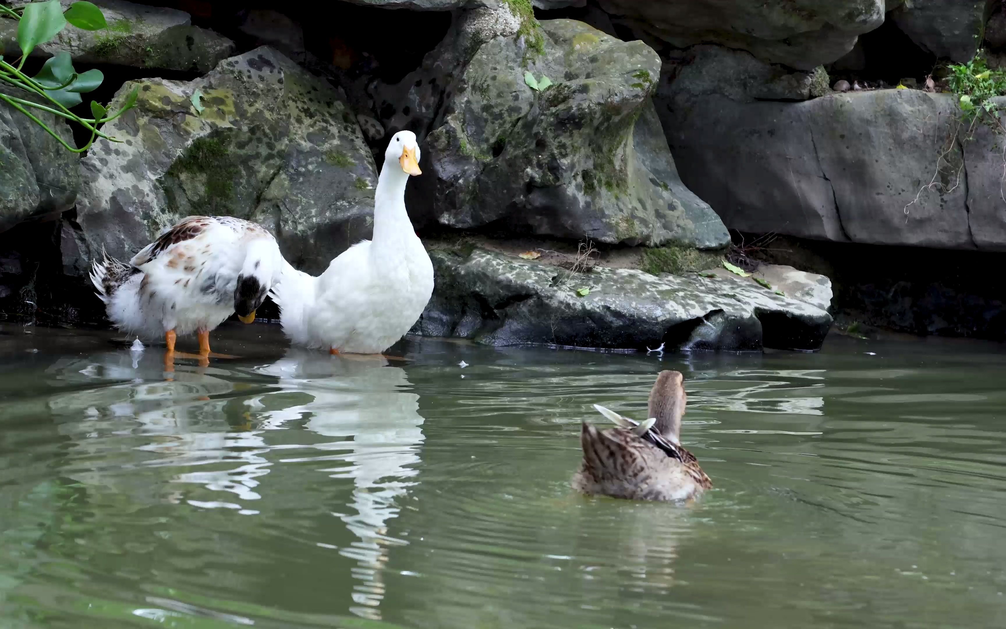
<instances>
[{"instance_id":1,"label":"wide rock along top edge, right of the mossy boulder's peak","mask_svg":"<svg viewBox=\"0 0 1006 629\"><path fill-rule=\"evenodd\" d=\"M883 0L601 0L643 33L677 47L718 43L761 59L813 69L841 57L883 23Z\"/></svg>"}]
</instances>

